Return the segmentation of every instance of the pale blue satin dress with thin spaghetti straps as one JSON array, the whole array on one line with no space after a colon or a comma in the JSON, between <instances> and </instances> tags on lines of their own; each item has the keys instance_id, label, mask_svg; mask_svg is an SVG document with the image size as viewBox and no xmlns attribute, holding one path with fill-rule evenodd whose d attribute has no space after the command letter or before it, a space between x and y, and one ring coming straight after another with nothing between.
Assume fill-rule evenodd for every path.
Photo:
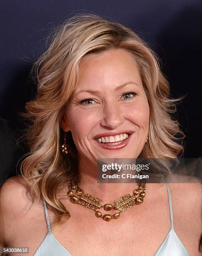
<instances>
[{"instance_id":1,"label":"pale blue satin dress with thin spaghetti straps","mask_svg":"<svg viewBox=\"0 0 202 256\"><path fill-rule=\"evenodd\" d=\"M167 179L164 179L168 191L171 229L167 234L164 242L162 243L162 245L160 246L160 248L158 249L154 256L190 256L190 254L187 252L186 248L184 247L184 245L182 244L179 237L174 231L170 189ZM45 217L48 225L48 233L45 236L43 242L40 244L37 251L34 253L34 256L72 256L71 253L69 253L51 233L51 227L48 219L48 211L44 199L43 204L45 209Z\"/></svg>"}]
</instances>

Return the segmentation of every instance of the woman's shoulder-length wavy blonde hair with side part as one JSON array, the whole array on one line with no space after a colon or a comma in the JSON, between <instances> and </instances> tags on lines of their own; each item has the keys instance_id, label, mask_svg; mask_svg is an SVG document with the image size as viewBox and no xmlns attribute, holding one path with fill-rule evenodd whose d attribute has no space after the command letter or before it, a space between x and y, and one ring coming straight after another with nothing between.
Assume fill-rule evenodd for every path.
<instances>
[{"instance_id":1,"label":"woman's shoulder-length wavy blonde hair with side part","mask_svg":"<svg viewBox=\"0 0 202 256\"><path fill-rule=\"evenodd\" d=\"M134 31L119 23L92 14L68 19L56 29L48 50L33 66L37 95L35 100L26 103L25 113L29 120L30 153L21 164L21 175L30 185L33 197L40 200L43 196L55 210L53 228L70 217L57 193L67 185L68 179L78 175L71 133L68 134L70 153L61 154L61 121L78 81L79 61L86 54L111 49L125 49L134 55L149 102L149 143L139 158L177 158L183 151L179 143L183 133L177 120L171 118L177 100L169 98L169 84L154 52Z\"/></svg>"}]
</instances>

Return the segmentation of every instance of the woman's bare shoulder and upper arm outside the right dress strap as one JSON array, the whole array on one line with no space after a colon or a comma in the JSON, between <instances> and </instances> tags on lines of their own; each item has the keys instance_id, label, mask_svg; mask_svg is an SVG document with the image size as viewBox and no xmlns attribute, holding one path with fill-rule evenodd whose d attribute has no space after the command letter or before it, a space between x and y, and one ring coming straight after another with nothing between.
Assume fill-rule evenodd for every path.
<instances>
[{"instance_id":1,"label":"woman's bare shoulder and upper arm outside the right dress strap","mask_svg":"<svg viewBox=\"0 0 202 256\"><path fill-rule=\"evenodd\" d=\"M188 177L188 182L184 182L169 183L174 230L191 255L201 255L202 184L197 177Z\"/></svg>"}]
</instances>

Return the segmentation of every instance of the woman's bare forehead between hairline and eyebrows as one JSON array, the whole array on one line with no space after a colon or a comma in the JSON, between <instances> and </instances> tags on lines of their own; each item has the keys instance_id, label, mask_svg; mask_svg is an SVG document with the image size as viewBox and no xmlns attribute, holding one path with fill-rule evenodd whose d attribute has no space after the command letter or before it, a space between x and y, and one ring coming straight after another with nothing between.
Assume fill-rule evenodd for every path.
<instances>
[{"instance_id":1,"label":"woman's bare forehead between hairline and eyebrows","mask_svg":"<svg viewBox=\"0 0 202 256\"><path fill-rule=\"evenodd\" d=\"M129 81L141 85L134 56L124 49L114 49L88 54L81 59L76 90L81 87L116 86Z\"/></svg>"}]
</instances>

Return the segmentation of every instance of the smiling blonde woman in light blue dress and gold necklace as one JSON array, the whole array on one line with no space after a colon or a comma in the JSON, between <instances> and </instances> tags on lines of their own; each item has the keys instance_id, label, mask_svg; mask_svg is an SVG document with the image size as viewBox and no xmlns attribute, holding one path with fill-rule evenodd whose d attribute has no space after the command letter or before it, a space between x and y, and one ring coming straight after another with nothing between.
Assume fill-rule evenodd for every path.
<instances>
[{"instance_id":1,"label":"smiling blonde woman in light blue dress and gold necklace","mask_svg":"<svg viewBox=\"0 0 202 256\"><path fill-rule=\"evenodd\" d=\"M97 159L171 159L183 150L169 115L175 100L148 46L120 24L77 15L35 68L30 154L22 177L1 189L0 246L35 256L200 255L199 184L97 183ZM117 211L114 201L133 193L134 206ZM101 205L95 213L81 205L85 196Z\"/></svg>"}]
</instances>

